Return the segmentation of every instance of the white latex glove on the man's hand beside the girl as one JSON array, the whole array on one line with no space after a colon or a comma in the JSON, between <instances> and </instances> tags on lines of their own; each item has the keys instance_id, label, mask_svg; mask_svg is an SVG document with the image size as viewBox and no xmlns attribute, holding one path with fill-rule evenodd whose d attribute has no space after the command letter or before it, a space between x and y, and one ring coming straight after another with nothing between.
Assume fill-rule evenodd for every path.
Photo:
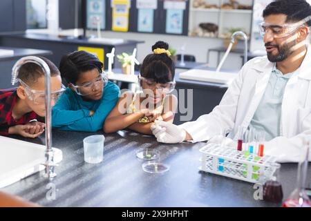
<instances>
[{"instance_id":1,"label":"white latex glove on the man's hand beside the girl","mask_svg":"<svg viewBox=\"0 0 311 221\"><path fill-rule=\"evenodd\" d=\"M176 144L183 142L186 138L186 131L175 124L156 120L151 125L151 131L160 143Z\"/></svg>"}]
</instances>

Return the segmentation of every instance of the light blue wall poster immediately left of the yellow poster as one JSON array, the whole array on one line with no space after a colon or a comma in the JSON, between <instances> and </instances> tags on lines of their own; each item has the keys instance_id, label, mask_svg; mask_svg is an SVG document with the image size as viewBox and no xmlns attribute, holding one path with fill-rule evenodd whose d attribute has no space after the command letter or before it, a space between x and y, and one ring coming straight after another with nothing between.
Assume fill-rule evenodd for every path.
<instances>
[{"instance_id":1,"label":"light blue wall poster immediately left of the yellow poster","mask_svg":"<svg viewBox=\"0 0 311 221\"><path fill-rule=\"evenodd\" d=\"M106 23L106 0L88 0L86 4L86 27L90 29L96 29L100 25L100 28L105 29Z\"/></svg>"}]
</instances>

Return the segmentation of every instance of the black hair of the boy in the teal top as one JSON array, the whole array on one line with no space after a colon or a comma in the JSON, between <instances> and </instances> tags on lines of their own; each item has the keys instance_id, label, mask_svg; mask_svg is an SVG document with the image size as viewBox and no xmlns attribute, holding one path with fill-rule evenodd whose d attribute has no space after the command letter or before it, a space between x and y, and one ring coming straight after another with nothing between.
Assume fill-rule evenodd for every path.
<instances>
[{"instance_id":1,"label":"black hair of the boy in the teal top","mask_svg":"<svg viewBox=\"0 0 311 221\"><path fill-rule=\"evenodd\" d=\"M93 70L94 68L97 68L97 70L102 73L103 64L97 56L85 50L79 50L64 55L59 63L59 70L62 78L64 78L67 83L72 84L77 82L81 73Z\"/></svg>"}]
</instances>

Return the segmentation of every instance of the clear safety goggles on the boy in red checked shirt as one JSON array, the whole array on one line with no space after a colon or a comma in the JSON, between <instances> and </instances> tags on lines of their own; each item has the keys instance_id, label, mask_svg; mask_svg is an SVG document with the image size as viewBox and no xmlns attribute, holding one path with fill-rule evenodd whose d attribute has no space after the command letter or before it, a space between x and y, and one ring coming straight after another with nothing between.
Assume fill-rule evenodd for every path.
<instances>
[{"instance_id":1,"label":"clear safety goggles on the boy in red checked shirt","mask_svg":"<svg viewBox=\"0 0 311 221\"><path fill-rule=\"evenodd\" d=\"M17 81L19 81L21 86L23 86L23 88L25 89L25 93L30 101L34 102L35 104L44 104L46 102L46 93L44 92L44 90L34 90L21 79L17 79ZM54 102L57 102L57 100L62 95L62 93L64 93L65 90L66 87L62 84L62 88L60 90L50 93L50 99L54 100Z\"/></svg>"}]
</instances>

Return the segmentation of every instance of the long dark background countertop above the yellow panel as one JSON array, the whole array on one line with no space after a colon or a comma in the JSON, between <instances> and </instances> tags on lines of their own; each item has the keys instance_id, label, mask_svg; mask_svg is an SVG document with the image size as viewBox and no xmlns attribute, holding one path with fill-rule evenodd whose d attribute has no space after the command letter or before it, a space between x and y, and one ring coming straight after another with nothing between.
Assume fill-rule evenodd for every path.
<instances>
[{"instance_id":1,"label":"long dark background countertop above the yellow panel","mask_svg":"<svg viewBox=\"0 0 311 221\"><path fill-rule=\"evenodd\" d=\"M37 33L26 33L26 34L2 34L0 37L14 37L14 38L23 38L23 39L32 39L38 41L54 41L64 44L88 44L93 46L126 46L133 44L144 43L144 41L133 41L133 40L124 40L122 43L110 44L110 43L100 43L100 42L91 42L88 39L78 39L75 37L59 37L57 35L50 34L37 34Z\"/></svg>"}]
</instances>

